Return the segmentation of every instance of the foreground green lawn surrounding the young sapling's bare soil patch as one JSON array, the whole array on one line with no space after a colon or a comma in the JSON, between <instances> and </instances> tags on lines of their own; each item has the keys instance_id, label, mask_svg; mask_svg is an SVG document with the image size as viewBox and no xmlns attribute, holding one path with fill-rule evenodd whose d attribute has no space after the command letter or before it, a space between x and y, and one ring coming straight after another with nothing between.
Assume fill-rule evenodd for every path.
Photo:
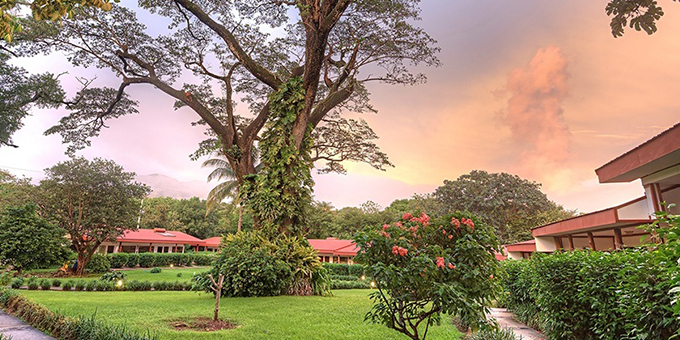
<instances>
[{"instance_id":1,"label":"foreground green lawn surrounding the young sapling's bare soil patch","mask_svg":"<svg viewBox=\"0 0 680 340\"><path fill-rule=\"evenodd\" d=\"M59 292L21 294L65 315L93 313L111 323L150 329L161 339L395 339L405 338L383 325L364 322L370 290L338 290L333 297L277 296L225 298L220 317L240 327L218 332L175 331L168 322L211 317L212 295L196 292ZM450 319L430 328L428 339L457 339Z\"/></svg>"}]
</instances>

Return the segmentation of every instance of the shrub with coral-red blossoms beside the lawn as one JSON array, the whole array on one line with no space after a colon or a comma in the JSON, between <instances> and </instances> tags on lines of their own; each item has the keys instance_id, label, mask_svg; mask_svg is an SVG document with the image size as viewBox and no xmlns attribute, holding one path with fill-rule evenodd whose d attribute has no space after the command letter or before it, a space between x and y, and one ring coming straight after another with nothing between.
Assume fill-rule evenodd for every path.
<instances>
[{"instance_id":1,"label":"shrub with coral-red blossoms beside the lawn","mask_svg":"<svg viewBox=\"0 0 680 340\"><path fill-rule=\"evenodd\" d=\"M357 262L375 279L366 320L424 339L441 313L482 328L500 285L493 229L467 213L430 221L406 213L400 221L357 234Z\"/></svg>"}]
</instances>

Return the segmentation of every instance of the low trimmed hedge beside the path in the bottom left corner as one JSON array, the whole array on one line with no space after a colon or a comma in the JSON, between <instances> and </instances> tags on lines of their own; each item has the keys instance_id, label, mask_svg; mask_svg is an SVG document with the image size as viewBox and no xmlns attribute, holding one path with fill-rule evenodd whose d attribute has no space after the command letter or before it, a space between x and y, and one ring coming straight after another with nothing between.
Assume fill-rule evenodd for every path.
<instances>
[{"instance_id":1,"label":"low trimmed hedge beside the path in the bottom left corner","mask_svg":"<svg viewBox=\"0 0 680 340\"><path fill-rule=\"evenodd\" d=\"M17 316L31 326L63 340L154 340L158 337L148 333L139 334L125 326L111 325L92 317L71 318L51 312L11 289L0 288L0 307L8 314Z\"/></svg>"}]
</instances>

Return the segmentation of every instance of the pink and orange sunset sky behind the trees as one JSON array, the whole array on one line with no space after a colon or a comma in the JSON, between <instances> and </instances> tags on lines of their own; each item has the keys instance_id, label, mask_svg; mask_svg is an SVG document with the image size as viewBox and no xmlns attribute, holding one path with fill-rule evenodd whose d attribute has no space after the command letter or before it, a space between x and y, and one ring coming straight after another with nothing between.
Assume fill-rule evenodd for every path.
<instances>
[{"instance_id":1,"label":"pink and orange sunset sky behind the trees","mask_svg":"<svg viewBox=\"0 0 680 340\"><path fill-rule=\"evenodd\" d=\"M594 169L680 121L680 5L652 36L614 39L606 1L425 1L422 26L439 41L443 66L427 84L374 84L378 114L365 114L395 168L347 164L347 175L316 176L316 198L336 207L372 200L382 206L431 192L473 169L509 172L543 183L554 201L589 212L643 194L639 183L597 183ZM26 62L34 71L65 65L59 56ZM100 70L71 70L64 77ZM140 112L111 124L81 152L140 175L204 182L208 170L188 155L202 139L188 110L149 87L129 91ZM63 112L36 111L1 148L0 167L39 178L66 159L58 136L42 132ZM205 196L205 187L196 185Z\"/></svg>"}]
</instances>

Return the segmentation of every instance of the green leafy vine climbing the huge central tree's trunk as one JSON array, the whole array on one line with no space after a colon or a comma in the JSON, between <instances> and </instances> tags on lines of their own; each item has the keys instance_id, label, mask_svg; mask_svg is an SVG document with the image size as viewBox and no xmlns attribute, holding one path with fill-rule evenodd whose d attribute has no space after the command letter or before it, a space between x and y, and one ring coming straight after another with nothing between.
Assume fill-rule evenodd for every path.
<instances>
[{"instance_id":1,"label":"green leafy vine climbing the huge central tree's trunk","mask_svg":"<svg viewBox=\"0 0 680 340\"><path fill-rule=\"evenodd\" d=\"M282 84L269 96L270 118L260 140L261 161L258 174L246 176L241 198L258 218L260 228L271 232L296 233L305 223L305 210L312 200L309 150L313 141L307 127L298 149L293 125L304 109L305 91L300 78Z\"/></svg>"}]
</instances>

